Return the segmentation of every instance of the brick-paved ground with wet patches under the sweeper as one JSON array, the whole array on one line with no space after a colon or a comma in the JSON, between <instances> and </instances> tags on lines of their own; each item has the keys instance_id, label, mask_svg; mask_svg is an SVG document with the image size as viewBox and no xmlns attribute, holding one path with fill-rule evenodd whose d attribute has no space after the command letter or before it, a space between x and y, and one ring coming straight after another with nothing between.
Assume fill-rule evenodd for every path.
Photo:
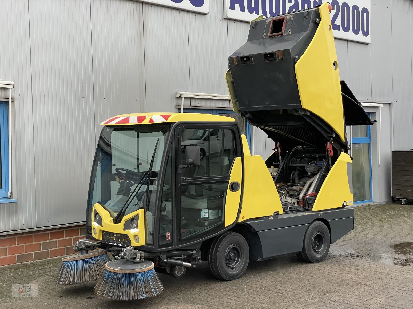
<instances>
[{"instance_id":1,"label":"brick-paved ground with wet patches under the sweeper","mask_svg":"<svg viewBox=\"0 0 413 309\"><path fill-rule=\"evenodd\" d=\"M0 267L0 308L413 308L413 204L359 206L356 229L318 264L289 255L252 261L223 282L207 263L181 279L160 274L166 292L135 302L107 301L95 283L53 283L59 259ZM12 283L37 283L38 297L13 297Z\"/></svg>"}]
</instances>

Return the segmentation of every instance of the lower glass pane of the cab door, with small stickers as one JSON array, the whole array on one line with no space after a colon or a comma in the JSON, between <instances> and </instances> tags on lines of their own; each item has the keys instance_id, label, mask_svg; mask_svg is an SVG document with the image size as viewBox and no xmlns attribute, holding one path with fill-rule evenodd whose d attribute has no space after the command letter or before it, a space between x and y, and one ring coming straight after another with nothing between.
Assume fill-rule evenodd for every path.
<instances>
[{"instance_id":1,"label":"lower glass pane of the cab door, with small stickers","mask_svg":"<svg viewBox=\"0 0 413 309\"><path fill-rule=\"evenodd\" d=\"M181 185L181 239L195 239L220 229L228 182Z\"/></svg>"}]
</instances>

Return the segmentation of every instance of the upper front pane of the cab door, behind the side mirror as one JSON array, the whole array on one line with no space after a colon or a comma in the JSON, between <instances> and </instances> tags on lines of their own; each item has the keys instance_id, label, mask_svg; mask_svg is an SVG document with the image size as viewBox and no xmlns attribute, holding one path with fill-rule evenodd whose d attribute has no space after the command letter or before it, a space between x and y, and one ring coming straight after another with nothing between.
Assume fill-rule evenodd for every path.
<instances>
[{"instance_id":1,"label":"upper front pane of the cab door, behind the side mirror","mask_svg":"<svg viewBox=\"0 0 413 309\"><path fill-rule=\"evenodd\" d=\"M183 129L181 131L180 164L185 164L185 147L199 146L200 165L182 169L182 178L209 176L209 130Z\"/></svg>"}]
</instances>

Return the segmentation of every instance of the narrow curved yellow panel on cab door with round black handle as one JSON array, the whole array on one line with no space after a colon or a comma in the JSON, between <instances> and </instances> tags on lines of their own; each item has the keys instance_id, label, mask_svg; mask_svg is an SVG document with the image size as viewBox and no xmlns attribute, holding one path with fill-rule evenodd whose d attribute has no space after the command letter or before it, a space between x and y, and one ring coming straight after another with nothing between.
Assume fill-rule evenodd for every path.
<instances>
[{"instance_id":1,"label":"narrow curved yellow panel on cab door with round black handle","mask_svg":"<svg viewBox=\"0 0 413 309\"><path fill-rule=\"evenodd\" d=\"M230 173L230 183L237 181L242 186L242 159L235 158ZM238 208L240 207L241 187L238 191L232 192L230 186L227 189L227 196L225 198L225 216L224 225L227 227L237 220Z\"/></svg>"}]
</instances>

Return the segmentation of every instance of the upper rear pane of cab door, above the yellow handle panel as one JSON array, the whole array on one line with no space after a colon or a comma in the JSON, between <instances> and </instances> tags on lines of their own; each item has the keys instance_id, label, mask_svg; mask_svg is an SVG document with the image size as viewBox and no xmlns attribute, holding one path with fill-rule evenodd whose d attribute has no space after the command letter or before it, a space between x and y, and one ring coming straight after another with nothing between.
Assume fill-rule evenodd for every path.
<instances>
[{"instance_id":1,"label":"upper rear pane of cab door, above the yellow handle panel","mask_svg":"<svg viewBox=\"0 0 413 309\"><path fill-rule=\"evenodd\" d=\"M230 167L237 157L234 133L232 130L211 130L211 176L229 175Z\"/></svg>"}]
</instances>

